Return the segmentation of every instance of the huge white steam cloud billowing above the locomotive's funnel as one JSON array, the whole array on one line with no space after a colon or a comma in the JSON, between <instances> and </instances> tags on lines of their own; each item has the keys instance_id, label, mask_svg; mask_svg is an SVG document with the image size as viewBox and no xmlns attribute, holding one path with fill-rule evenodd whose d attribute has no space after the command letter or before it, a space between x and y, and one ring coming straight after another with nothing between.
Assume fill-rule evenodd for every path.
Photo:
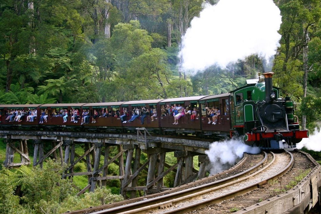
<instances>
[{"instance_id":1,"label":"huge white steam cloud billowing above the locomotive's funnel","mask_svg":"<svg viewBox=\"0 0 321 214\"><path fill-rule=\"evenodd\" d=\"M182 38L182 66L190 70L204 70L213 64L225 67L251 54L269 61L279 46L281 22L273 0L204 4Z\"/></svg>"}]
</instances>

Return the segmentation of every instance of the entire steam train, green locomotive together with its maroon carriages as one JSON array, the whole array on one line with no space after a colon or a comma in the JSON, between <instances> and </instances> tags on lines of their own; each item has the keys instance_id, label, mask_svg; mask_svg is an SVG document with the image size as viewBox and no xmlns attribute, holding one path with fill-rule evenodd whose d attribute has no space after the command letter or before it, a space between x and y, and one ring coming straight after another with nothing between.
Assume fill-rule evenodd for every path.
<instances>
[{"instance_id":1,"label":"entire steam train, green locomotive together with its maroon carriages","mask_svg":"<svg viewBox=\"0 0 321 214\"><path fill-rule=\"evenodd\" d=\"M293 101L288 96L279 98L279 89L272 86L273 73L263 75L265 80L248 80L247 85L219 95L106 103L0 105L0 128L135 133L137 127L145 127L156 134L194 135L211 139L236 136L247 145L265 150L293 149L302 138L308 137L308 130L299 129ZM195 108L197 115L191 118L186 114L177 120L178 124L173 124L174 116L166 108L173 105L189 107L191 110ZM208 107L220 110L217 123L208 123ZM156 108L157 116L154 115L153 119L151 115L141 116L130 123L125 123L119 117L128 111L128 120L135 110L138 109L142 114L142 109L146 108ZM34 110L36 114L29 121L25 118L10 121L8 112L12 109L15 112L23 110L24 114ZM67 112L67 120L59 115L61 109ZM87 112L90 118L95 117L95 123L82 124L81 116L72 121L73 109ZM41 112L48 115L45 123L40 122ZM100 113L98 117L96 112Z\"/></svg>"}]
</instances>

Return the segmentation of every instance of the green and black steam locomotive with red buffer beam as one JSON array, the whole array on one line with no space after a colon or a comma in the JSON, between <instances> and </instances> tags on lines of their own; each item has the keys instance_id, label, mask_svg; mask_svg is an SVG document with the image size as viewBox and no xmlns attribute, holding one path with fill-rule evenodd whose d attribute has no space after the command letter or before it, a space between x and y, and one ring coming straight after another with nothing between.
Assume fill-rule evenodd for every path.
<instances>
[{"instance_id":1,"label":"green and black steam locomotive with red buffer beam","mask_svg":"<svg viewBox=\"0 0 321 214\"><path fill-rule=\"evenodd\" d=\"M231 117L232 126L247 145L262 149L295 148L308 130L299 129L298 117L294 115L295 104L286 96L279 98L279 90L272 85L273 72L263 73L265 81L247 85L231 93L234 96L247 95L246 100L236 103ZM260 76L260 75L259 75Z\"/></svg>"}]
</instances>

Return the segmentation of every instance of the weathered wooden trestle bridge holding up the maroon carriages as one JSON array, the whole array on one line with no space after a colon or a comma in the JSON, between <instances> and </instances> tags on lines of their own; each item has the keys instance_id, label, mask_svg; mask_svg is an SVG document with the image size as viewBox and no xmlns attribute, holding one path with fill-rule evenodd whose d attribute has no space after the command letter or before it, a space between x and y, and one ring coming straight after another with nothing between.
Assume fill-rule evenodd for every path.
<instances>
[{"instance_id":1,"label":"weathered wooden trestle bridge holding up the maroon carriages","mask_svg":"<svg viewBox=\"0 0 321 214\"><path fill-rule=\"evenodd\" d=\"M136 197L136 191L143 190L144 194L151 194L167 190L168 188L163 185L163 177L171 171L176 173L174 187L205 177L208 159L204 151L209 147L208 141L165 136L152 137L144 128L137 128L136 130L137 135L0 130L0 138L4 138L6 143L4 166L15 167L31 164L27 143L32 142L34 147L33 166L40 165L42 167L46 158L60 159L61 163L69 165L63 175L64 177L88 176L88 185L78 194L87 190L94 191L97 186L106 185L109 179L119 179L121 194L125 196L129 192L130 198L134 198ZM83 154L75 152L76 144L84 145ZM113 146L117 147L118 153L111 157L109 150ZM48 147L51 147L51 150L45 151L45 148ZM13 162L15 152L18 152L21 156L20 163ZM146 153L148 157L144 164L140 163L142 152ZM166 152L174 152L177 163L173 166L165 162ZM102 156L104 157L104 164L100 166ZM198 156L199 170L193 167L194 156ZM86 162L86 172L74 172L75 164L80 161ZM119 167L119 175L107 175L108 165L111 163L115 163ZM166 171L164 171L165 167L167 168ZM146 185L137 186L138 175L143 170L147 172Z\"/></svg>"}]
</instances>

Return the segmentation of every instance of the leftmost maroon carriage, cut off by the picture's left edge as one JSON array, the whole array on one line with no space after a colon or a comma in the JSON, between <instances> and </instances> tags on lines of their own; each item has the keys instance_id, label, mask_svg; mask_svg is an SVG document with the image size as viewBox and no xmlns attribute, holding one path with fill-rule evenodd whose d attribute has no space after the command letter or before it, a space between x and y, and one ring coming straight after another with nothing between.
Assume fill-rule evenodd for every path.
<instances>
[{"instance_id":1,"label":"leftmost maroon carriage, cut off by the picture's left edge","mask_svg":"<svg viewBox=\"0 0 321 214\"><path fill-rule=\"evenodd\" d=\"M39 123L40 105L0 105L1 124L3 126L37 125Z\"/></svg>"}]
</instances>

